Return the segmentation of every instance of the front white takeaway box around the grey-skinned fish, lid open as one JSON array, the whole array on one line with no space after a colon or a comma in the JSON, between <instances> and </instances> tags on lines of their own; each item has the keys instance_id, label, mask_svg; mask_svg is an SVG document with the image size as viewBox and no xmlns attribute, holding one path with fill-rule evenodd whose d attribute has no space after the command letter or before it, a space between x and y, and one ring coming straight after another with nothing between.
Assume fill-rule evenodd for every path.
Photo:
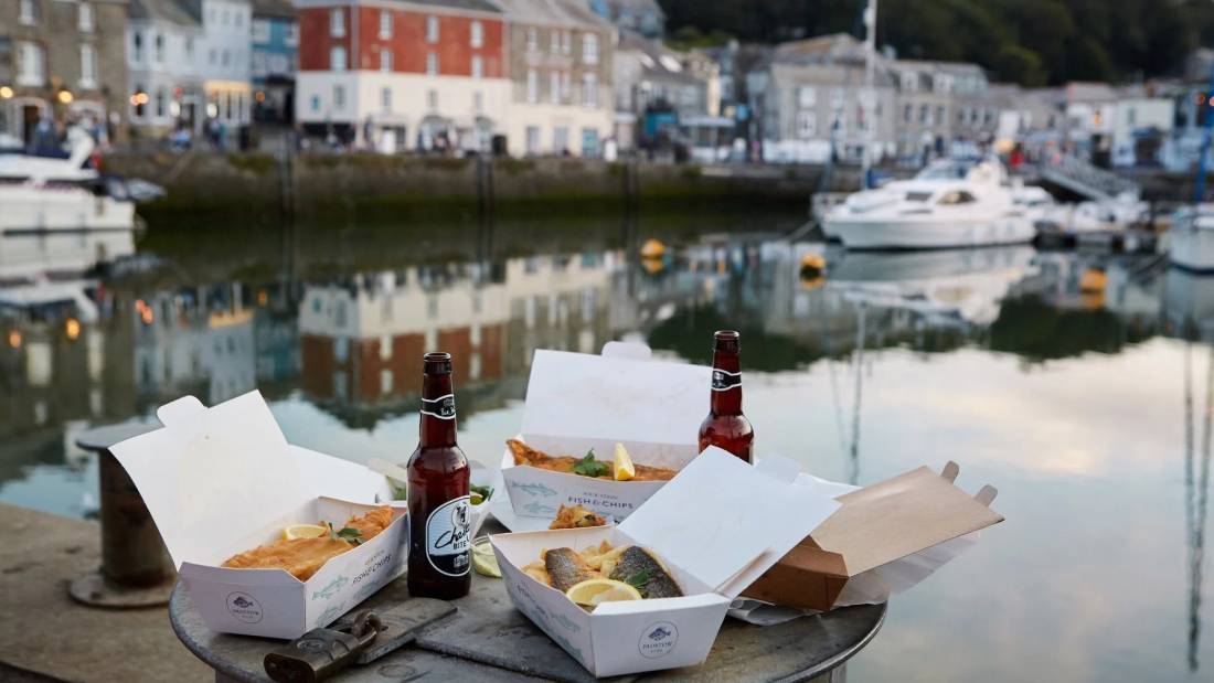
<instances>
[{"instance_id":1,"label":"front white takeaway box around the grey-skinned fish, lid open","mask_svg":"<svg viewBox=\"0 0 1214 683\"><path fill-rule=\"evenodd\" d=\"M490 536L510 599L595 676L700 664L732 599L839 507L789 465L750 466L714 446L619 527ZM541 550L605 540L652 548L686 594L586 613L522 570Z\"/></svg>"}]
</instances>

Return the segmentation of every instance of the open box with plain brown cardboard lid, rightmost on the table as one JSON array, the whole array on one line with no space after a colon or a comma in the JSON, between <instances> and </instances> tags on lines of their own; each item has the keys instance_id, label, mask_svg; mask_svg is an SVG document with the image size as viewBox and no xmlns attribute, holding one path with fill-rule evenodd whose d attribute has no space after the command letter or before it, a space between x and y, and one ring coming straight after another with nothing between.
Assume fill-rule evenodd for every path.
<instances>
[{"instance_id":1,"label":"open box with plain brown cardboard lid, rightmost on the table","mask_svg":"<svg viewBox=\"0 0 1214 683\"><path fill-rule=\"evenodd\" d=\"M826 611L914 586L972 545L980 529L1003 522L989 508L995 489L971 497L953 485L959 471L955 462L941 474L919 467L838 496L843 507L743 597Z\"/></svg>"}]
</instances>

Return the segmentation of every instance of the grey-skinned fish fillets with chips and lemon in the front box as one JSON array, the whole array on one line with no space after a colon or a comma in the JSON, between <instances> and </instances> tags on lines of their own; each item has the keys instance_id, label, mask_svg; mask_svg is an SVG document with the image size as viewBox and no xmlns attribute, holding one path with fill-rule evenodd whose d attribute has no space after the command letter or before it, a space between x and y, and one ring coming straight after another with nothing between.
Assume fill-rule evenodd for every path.
<instances>
[{"instance_id":1,"label":"grey-skinned fish fillets with chips and lemon in the front box","mask_svg":"<svg viewBox=\"0 0 1214 683\"><path fill-rule=\"evenodd\" d=\"M665 565L635 545L612 547L607 541L575 551L540 551L539 562L523 573L561 591L583 608L608 601L676 598L683 594Z\"/></svg>"}]
</instances>

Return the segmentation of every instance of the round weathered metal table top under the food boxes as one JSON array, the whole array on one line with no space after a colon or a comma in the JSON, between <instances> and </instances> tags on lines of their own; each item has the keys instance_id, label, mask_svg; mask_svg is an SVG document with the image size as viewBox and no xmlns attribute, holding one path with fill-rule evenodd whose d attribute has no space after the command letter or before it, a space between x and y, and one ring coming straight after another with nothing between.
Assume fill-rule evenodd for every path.
<instances>
[{"instance_id":1,"label":"round weathered metal table top under the food boxes","mask_svg":"<svg viewBox=\"0 0 1214 683\"><path fill-rule=\"evenodd\" d=\"M408 598L398 579L359 607L393 605ZM594 681L586 670L515 609L500 579L473 575L472 591L454 601L455 614L425 627L418 639L367 666L346 670L337 683L387 681ZM172 630L217 675L270 682L266 653L282 641L210 631L182 584L169 603ZM776 626L726 619L708 661L700 666L620 677L620 681L809 681L840 666L881 627L885 605L843 608Z\"/></svg>"}]
</instances>

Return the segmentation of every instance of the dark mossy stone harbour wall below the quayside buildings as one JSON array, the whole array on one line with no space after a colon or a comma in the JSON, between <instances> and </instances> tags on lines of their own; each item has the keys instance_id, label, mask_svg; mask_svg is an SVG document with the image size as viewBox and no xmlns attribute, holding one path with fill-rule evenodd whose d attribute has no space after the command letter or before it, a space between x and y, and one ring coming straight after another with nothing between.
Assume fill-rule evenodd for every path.
<instances>
[{"instance_id":1,"label":"dark mossy stone harbour wall below the quayside buildings","mask_svg":"<svg viewBox=\"0 0 1214 683\"><path fill-rule=\"evenodd\" d=\"M379 154L117 153L106 170L164 186L144 204L151 224L238 215L274 220L561 217L632 210L795 211L822 186L821 166L670 165L584 159L447 159ZM858 184L839 167L829 189Z\"/></svg>"}]
</instances>

